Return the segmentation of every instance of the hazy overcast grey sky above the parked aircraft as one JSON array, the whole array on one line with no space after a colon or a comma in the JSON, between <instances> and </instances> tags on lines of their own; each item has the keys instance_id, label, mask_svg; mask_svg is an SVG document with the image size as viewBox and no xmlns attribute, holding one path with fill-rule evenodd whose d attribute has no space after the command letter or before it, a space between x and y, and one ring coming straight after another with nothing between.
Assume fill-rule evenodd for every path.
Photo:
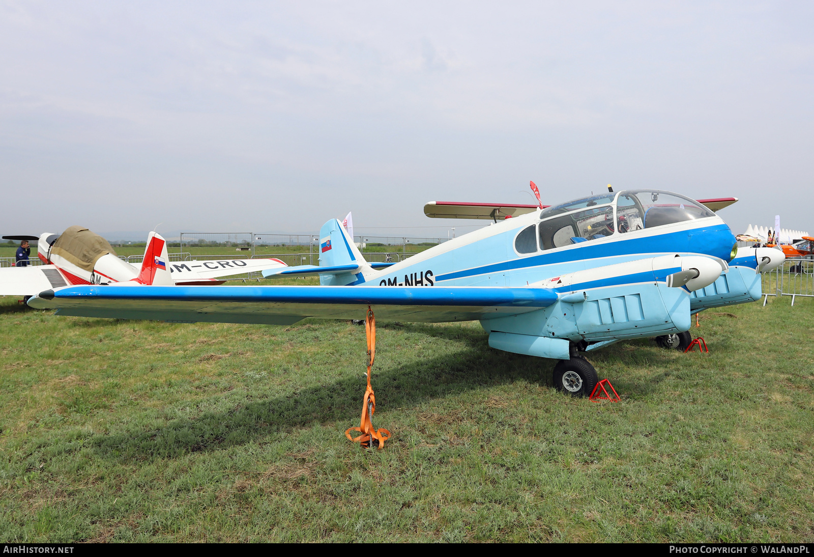
<instances>
[{"instance_id":1,"label":"hazy overcast grey sky above the parked aircraft","mask_svg":"<svg viewBox=\"0 0 814 557\"><path fill-rule=\"evenodd\" d=\"M425 202L534 180L814 231L812 29L812 2L0 2L0 228L446 236L473 221Z\"/></svg>"}]
</instances>

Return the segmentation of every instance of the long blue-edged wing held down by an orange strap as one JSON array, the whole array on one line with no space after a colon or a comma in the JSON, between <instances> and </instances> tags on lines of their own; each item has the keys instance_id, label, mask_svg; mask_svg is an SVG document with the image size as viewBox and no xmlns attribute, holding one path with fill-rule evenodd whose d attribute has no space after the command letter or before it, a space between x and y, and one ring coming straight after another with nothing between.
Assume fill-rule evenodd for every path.
<instances>
[{"instance_id":1,"label":"long blue-edged wing held down by an orange strap","mask_svg":"<svg viewBox=\"0 0 814 557\"><path fill-rule=\"evenodd\" d=\"M76 286L28 300L59 315L290 325L300 319L376 318L411 322L470 321L520 314L557 301L543 287L346 286Z\"/></svg>"}]
</instances>

